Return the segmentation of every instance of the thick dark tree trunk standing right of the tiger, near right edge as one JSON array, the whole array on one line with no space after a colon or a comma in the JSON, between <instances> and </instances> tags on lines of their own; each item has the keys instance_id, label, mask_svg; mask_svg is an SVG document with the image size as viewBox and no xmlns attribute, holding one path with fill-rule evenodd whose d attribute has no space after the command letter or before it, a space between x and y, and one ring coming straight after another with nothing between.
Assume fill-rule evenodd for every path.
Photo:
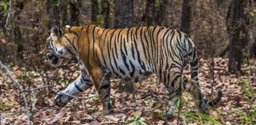
<instances>
[{"instance_id":1,"label":"thick dark tree trunk standing right of the tiger, near right edge","mask_svg":"<svg viewBox=\"0 0 256 125\"><path fill-rule=\"evenodd\" d=\"M242 73L244 49L248 43L249 14L245 9L249 0L232 0L226 16L226 26L229 39L229 64L230 73Z\"/></svg>"}]
</instances>

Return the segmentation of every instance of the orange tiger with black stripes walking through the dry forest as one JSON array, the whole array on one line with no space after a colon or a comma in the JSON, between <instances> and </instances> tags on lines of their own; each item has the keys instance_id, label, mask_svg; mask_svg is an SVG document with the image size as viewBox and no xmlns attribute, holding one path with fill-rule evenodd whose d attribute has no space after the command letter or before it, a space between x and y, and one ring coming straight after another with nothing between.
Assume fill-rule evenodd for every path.
<instances>
[{"instance_id":1,"label":"orange tiger with black stripes walking through the dry forest","mask_svg":"<svg viewBox=\"0 0 256 125\"><path fill-rule=\"evenodd\" d=\"M58 67L76 59L80 76L54 97L56 106L65 106L72 97L91 86L97 90L104 114L111 113L110 78L125 83L142 82L156 74L172 99L180 91L192 94L200 113L209 115L222 97L221 90L212 101L204 98L199 86L198 57L195 44L179 30L162 26L106 29L96 25L53 26L46 41L46 61ZM191 78L183 75L188 60ZM63 94L64 93L64 94ZM69 95L68 95L69 94Z\"/></svg>"}]
</instances>

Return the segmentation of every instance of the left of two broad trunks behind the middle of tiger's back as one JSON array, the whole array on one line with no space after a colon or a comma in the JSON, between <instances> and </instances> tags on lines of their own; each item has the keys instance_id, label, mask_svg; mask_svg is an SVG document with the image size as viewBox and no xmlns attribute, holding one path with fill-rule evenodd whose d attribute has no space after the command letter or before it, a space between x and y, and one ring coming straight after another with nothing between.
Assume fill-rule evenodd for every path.
<instances>
[{"instance_id":1,"label":"left of two broad trunks behind the middle of tiger's back","mask_svg":"<svg viewBox=\"0 0 256 125\"><path fill-rule=\"evenodd\" d=\"M133 0L115 0L115 28L133 26Z\"/></svg>"}]
</instances>

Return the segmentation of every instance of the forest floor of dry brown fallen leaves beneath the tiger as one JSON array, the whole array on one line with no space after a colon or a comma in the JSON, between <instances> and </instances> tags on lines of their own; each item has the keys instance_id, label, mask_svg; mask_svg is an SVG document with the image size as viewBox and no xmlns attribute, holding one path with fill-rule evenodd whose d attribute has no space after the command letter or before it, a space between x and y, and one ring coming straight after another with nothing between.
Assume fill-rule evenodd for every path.
<instances>
[{"instance_id":1,"label":"forest floor of dry brown fallen leaves beneath the tiger","mask_svg":"<svg viewBox=\"0 0 256 125\"><path fill-rule=\"evenodd\" d=\"M180 124L255 124L256 123L256 70L254 66L243 66L242 76L229 74L228 60L214 59L214 82L210 73L212 59L200 59L200 86L207 99L216 97L217 90L222 90L223 98L216 107L210 108L210 115L197 113L191 95L183 93ZM24 83L26 89L51 84L51 80L41 77L33 70L10 66L14 76ZM63 86L78 75L76 66L68 69L49 70L63 78ZM184 72L188 74L187 70ZM30 77L27 77L30 76ZM1 124L26 124L26 109L18 87L11 83L5 75L0 75L0 122ZM56 76L51 76L52 78ZM24 81L24 79L27 80ZM56 81L57 82L57 81ZM118 80L112 80L111 98L113 112L102 115L102 105L92 87L79 96L88 99L73 99L65 107L56 107L53 103L55 90L43 88L27 94L31 107L31 120L34 124L176 124L178 110L171 106L166 88L159 84L156 76L148 78L134 86L134 93L122 92L118 89ZM48 84L46 84L48 83ZM211 85L213 95L211 96ZM166 111L174 109L174 114L166 115Z\"/></svg>"}]
</instances>

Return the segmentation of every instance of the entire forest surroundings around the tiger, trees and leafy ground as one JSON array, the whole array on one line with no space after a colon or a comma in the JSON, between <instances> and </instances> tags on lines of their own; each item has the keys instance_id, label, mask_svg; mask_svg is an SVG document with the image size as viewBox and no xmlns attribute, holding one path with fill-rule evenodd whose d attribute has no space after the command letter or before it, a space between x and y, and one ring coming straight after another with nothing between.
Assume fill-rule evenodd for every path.
<instances>
[{"instance_id":1,"label":"entire forest surroundings around the tiger, trees and leafy ground","mask_svg":"<svg viewBox=\"0 0 256 125\"><path fill-rule=\"evenodd\" d=\"M181 30L199 52L203 93L210 99L222 90L224 98L207 116L197 113L191 96L183 93L179 113L153 76L135 84L133 93L121 91L119 81L112 80L110 115L100 114L94 88L62 109L55 107L56 91L75 80L79 70L74 62L49 66L42 51L49 28L67 23ZM0 124L26 124L28 119L27 124L255 124L255 59L255 0L2 0ZM170 109L174 113L167 115Z\"/></svg>"}]
</instances>

